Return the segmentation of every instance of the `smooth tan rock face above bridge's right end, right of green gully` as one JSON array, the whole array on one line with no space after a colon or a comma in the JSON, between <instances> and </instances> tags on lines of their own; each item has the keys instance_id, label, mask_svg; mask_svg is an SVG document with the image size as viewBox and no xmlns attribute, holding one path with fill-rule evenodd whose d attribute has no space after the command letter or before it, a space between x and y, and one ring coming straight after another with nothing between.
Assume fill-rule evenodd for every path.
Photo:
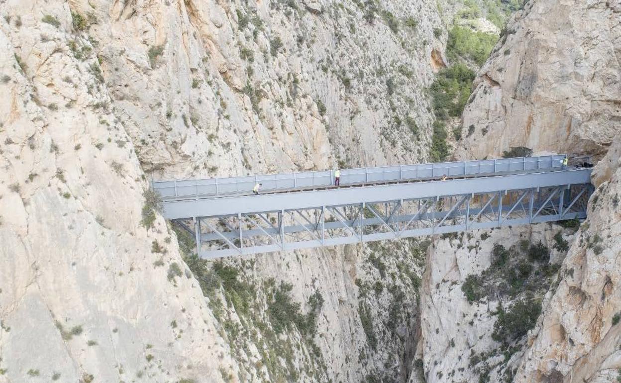
<instances>
[{"instance_id":1,"label":"smooth tan rock face above bridge's right end, right of green gully","mask_svg":"<svg viewBox=\"0 0 621 383\"><path fill-rule=\"evenodd\" d=\"M481 68L458 158L603 155L620 129L619 1L529 1Z\"/></svg>"}]
</instances>

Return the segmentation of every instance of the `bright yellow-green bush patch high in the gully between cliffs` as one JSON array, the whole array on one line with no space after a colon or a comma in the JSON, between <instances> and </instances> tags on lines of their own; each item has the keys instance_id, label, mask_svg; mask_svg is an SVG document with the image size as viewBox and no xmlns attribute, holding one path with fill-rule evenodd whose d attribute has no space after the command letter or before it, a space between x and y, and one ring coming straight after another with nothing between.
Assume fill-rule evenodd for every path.
<instances>
[{"instance_id":1,"label":"bright yellow-green bush patch high in the gully between cliffs","mask_svg":"<svg viewBox=\"0 0 621 383\"><path fill-rule=\"evenodd\" d=\"M486 34L455 25L448 31L446 41L446 55L451 61L458 61L459 58L473 60L477 65L483 65L489 53L492 52L498 36Z\"/></svg>"}]
</instances>

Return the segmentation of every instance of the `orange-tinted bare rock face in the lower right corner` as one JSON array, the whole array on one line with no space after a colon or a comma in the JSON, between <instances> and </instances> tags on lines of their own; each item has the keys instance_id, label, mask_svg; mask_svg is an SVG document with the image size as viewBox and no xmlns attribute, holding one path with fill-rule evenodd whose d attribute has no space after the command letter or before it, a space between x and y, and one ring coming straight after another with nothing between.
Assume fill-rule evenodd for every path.
<instances>
[{"instance_id":1,"label":"orange-tinted bare rock face in the lower right corner","mask_svg":"<svg viewBox=\"0 0 621 383\"><path fill-rule=\"evenodd\" d=\"M566 382L609 382L619 376L620 138L596 166L599 187L589 201L589 218L571 244L563 281L543 311L516 381L563 376Z\"/></svg>"}]
</instances>

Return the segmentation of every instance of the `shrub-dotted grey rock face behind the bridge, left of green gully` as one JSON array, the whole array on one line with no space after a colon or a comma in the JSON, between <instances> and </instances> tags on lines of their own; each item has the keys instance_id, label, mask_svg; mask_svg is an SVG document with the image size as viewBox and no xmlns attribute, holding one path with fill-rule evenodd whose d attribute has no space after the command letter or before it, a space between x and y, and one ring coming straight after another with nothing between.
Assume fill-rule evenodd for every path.
<instances>
[{"instance_id":1,"label":"shrub-dotted grey rock face behind the bridge, left of green gully","mask_svg":"<svg viewBox=\"0 0 621 383\"><path fill-rule=\"evenodd\" d=\"M433 81L432 50L443 50L432 34L441 26L433 1L124 4L73 11L97 15L88 34L100 42L93 48L112 103L156 178L427 154L423 91ZM391 30L386 15L419 24Z\"/></svg>"}]
</instances>

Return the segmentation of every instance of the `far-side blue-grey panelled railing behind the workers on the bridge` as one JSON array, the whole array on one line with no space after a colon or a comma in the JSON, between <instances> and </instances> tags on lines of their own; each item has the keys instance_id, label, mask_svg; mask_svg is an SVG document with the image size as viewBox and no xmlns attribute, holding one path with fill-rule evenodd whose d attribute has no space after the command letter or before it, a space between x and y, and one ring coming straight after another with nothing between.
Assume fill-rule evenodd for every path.
<instances>
[{"instance_id":1,"label":"far-side blue-grey panelled railing behind the workers on the bridge","mask_svg":"<svg viewBox=\"0 0 621 383\"><path fill-rule=\"evenodd\" d=\"M348 184L433 179L442 176L478 176L512 171L553 169L560 168L562 166L561 160L565 157L565 155L548 155L341 169L340 184L344 186ZM250 193L257 182L263 184L261 191L325 187L334 184L334 173L332 170L323 170L229 178L153 181L153 187L166 199Z\"/></svg>"}]
</instances>

